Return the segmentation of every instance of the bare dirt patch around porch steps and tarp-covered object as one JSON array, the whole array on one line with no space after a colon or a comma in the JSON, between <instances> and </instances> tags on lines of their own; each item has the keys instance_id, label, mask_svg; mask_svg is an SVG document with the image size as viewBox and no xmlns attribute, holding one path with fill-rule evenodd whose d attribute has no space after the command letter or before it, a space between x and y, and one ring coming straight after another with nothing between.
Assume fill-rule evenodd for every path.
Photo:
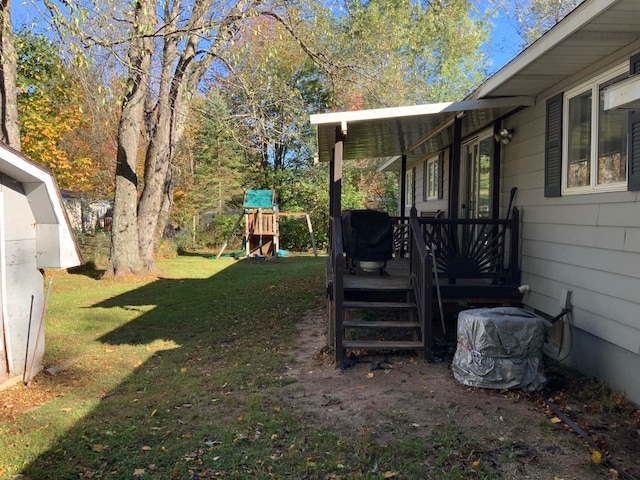
<instances>
[{"instance_id":1,"label":"bare dirt patch around porch steps and tarp-covered object","mask_svg":"<svg viewBox=\"0 0 640 480\"><path fill-rule=\"evenodd\" d=\"M592 382L576 373L548 368L547 387L533 394L467 387L453 377L453 346L441 349L434 363L406 354L358 355L347 368L336 368L325 331L323 312L310 312L299 324L297 361L288 371L303 385L292 398L309 422L345 436L371 435L380 445L408 432L427 437L454 423L484 446L470 455L495 464L502 478L640 475L640 412L601 386L595 400L589 398L586 386ZM594 463L594 448L558 421L545 399L588 432L620 471L607 462ZM603 411L603 403L608 411Z\"/></svg>"}]
</instances>

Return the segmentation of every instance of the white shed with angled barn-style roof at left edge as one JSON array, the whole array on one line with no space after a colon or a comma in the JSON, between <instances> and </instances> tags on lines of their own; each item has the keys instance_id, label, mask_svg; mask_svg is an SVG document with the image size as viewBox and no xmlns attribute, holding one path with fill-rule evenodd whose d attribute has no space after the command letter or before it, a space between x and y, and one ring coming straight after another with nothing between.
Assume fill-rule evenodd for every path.
<instances>
[{"instance_id":1,"label":"white shed with angled barn-style roof at left edge","mask_svg":"<svg viewBox=\"0 0 640 480\"><path fill-rule=\"evenodd\" d=\"M81 263L53 176L0 143L0 388L41 369L42 269Z\"/></svg>"}]
</instances>

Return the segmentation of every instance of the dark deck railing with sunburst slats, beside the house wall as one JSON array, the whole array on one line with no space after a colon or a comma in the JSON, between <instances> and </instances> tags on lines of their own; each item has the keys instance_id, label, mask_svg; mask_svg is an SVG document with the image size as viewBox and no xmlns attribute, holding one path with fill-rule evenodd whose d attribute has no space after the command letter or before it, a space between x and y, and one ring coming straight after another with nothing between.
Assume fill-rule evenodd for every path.
<instances>
[{"instance_id":1,"label":"dark deck railing with sunburst slats, beside the house wall","mask_svg":"<svg viewBox=\"0 0 640 480\"><path fill-rule=\"evenodd\" d=\"M415 221L425 245L433 250L438 275L449 283L455 283L456 279L490 279L519 284L518 209L513 209L509 219L415 218ZM410 252L409 232L409 221L394 218L394 249L400 258Z\"/></svg>"}]
</instances>

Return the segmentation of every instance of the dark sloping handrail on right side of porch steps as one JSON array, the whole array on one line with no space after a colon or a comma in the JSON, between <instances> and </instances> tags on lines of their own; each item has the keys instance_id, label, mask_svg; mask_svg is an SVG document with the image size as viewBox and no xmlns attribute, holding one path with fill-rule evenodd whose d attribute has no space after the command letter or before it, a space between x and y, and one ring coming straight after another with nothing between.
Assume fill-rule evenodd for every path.
<instances>
[{"instance_id":1,"label":"dark sloping handrail on right side of porch steps","mask_svg":"<svg viewBox=\"0 0 640 480\"><path fill-rule=\"evenodd\" d=\"M423 355L427 360L433 358L431 328L431 291L432 269L431 254L422 239L422 228L416 217L409 220L409 278L413 286L420 331L422 332Z\"/></svg>"}]
</instances>

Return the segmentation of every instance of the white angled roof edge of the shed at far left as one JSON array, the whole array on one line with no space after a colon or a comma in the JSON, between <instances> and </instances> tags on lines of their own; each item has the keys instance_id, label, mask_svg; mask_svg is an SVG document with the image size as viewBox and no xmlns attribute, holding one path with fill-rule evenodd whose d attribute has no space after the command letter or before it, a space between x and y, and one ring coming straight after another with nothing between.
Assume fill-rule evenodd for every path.
<instances>
[{"instance_id":1,"label":"white angled roof edge of the shed at far left","mask_svg":"<svg viewBox=\"0 0 640 480\"><path fill-rule=\"evenodd\" d=\"M39 268L70 268L82 263L60 190L51 173L0 143L0 173L20 183L36 220Z\"/></svg>"}]
</instances>

